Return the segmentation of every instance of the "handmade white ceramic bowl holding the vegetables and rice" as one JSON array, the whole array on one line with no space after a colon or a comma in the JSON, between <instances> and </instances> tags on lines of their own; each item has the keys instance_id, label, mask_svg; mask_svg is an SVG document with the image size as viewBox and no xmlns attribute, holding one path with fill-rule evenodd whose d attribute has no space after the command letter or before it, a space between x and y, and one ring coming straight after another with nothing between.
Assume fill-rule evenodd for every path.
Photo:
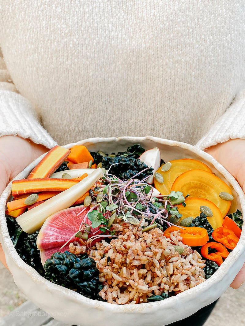
<instances>
[{"instance_id":1,"label":"handmade white ceramic bowl holding the vegetables and rice","mask_svg":"<svg viewBox=\"0 0 245 326\"><path fill-rule=\"evenodd\" d=\"M179 158L193 158L206 163L217 176L232 189L234 200L230 212L236 209L245 212L245 197L236 180L213 157L197 148L177 141L155 137L93 138L80 141L90 151L117 152L132 144L141 144L145 149L159 147L165 162ZM74 144L66 147L70 148ZM23 179L40 161L31 163L15 179ZM236 248L229 254L215 274L183 293L163 301L137 305L115 305L88 299L72 290L62 288L41 277L18 256L8 235L5 218L6 201L11 194L11 183L0 197L0 242L6 255L10 272L16 285L26 296L53 318L79 326L160 326L184 319L202 307L218 299L229 287L245 260L245 231Z\"/></svg>"}]
</instances>

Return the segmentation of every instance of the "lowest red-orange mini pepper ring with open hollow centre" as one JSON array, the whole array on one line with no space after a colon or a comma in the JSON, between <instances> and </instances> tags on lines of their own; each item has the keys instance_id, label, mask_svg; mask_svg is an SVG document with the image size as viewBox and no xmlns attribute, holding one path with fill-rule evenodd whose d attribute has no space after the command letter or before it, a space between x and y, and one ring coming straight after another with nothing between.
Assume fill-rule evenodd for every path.
<instances>
[{"instance_id":1,"label":"lowest red-orange mini pepper ring with open hollow centre","mask_svg":"<svg viewBox=\"0 0 245 326\"><path fill-rule=\"evenodd\" d=\"M217 250L215 253L208 253L208 249L215 249ZM219 266L222 264L223 259L227 258L229 255L228 250L223 246L223 244L219 244L217 242L208 242L204 244L201 248L201 254L204 258L212 260L216 262Z\"/></svg>"}]
</instances>

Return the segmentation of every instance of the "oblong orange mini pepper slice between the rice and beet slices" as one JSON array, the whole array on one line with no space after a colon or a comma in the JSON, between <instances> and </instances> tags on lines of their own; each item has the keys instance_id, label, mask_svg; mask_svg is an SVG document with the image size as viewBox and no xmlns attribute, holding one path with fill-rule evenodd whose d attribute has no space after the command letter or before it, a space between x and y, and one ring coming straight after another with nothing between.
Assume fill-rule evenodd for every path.
<instances>
[{"instance_id":1,"label":"oblong orange mini pepper slice between the rice and beet slices","mask_svg":"<svg viewBox=\"0 0 245 326\"><path fill-rule=\"evenodd\" d=\"M177 226L171 226L164 231L163 235L165 235L167 238L170 238L170 234L173 231L179 231L183 244L187 244L191 247L201 246L208 242L208 234L206 229L195 226L181 228Z\"/></svg>"}]
</instances>

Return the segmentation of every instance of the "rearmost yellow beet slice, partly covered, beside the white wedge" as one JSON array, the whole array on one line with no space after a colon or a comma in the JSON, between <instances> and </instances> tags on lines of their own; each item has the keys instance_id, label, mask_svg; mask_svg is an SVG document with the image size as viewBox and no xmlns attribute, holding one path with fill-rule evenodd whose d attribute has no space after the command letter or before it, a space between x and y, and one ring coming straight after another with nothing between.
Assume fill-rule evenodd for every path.
<instances>
[{"instance_id":1,"label":"rearmost yellow beet slice, partly covered, beside the white wedge","mask_svg":"<svg viewBox=\"0 0 245 326\"><path fill-rule=\"evenodd\" d=\"M163 176L163 183L160 184L158 181L154 179L154 186L155 188L160 191L162 195L170 194L172 184L174 180L182 173L193 170L193 169L200 169L205 170L212 173L211 169L198 160L193 160L191 158L183 158L180 160L173 160L170 161L172 164L170 170L162 171L160 167L157 172Z\"/></svg>"}]
</instances>

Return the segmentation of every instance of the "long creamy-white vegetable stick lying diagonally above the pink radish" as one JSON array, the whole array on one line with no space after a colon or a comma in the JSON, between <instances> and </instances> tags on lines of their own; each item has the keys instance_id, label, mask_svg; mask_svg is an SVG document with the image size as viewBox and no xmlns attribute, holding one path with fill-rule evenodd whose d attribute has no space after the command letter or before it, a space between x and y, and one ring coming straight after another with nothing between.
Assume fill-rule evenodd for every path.
<instances>
[{"instance_id":1,"label":"long creamy-white vegetable stick lying diagonally above the pink radish","mask_svg":"<svg viewBox=\"0 0 245 326\"><path fill-rule=\"evenodd\" d=\"M44 203L30 209L16 218L24 232L32 234L40 230L44 221L51 215L70 207L76 200L82 197L95 182L102 177L100 168L91 169L93 172L86 178L64 190L60 194L46 200Z\"/></svg>"}]
</instances>

